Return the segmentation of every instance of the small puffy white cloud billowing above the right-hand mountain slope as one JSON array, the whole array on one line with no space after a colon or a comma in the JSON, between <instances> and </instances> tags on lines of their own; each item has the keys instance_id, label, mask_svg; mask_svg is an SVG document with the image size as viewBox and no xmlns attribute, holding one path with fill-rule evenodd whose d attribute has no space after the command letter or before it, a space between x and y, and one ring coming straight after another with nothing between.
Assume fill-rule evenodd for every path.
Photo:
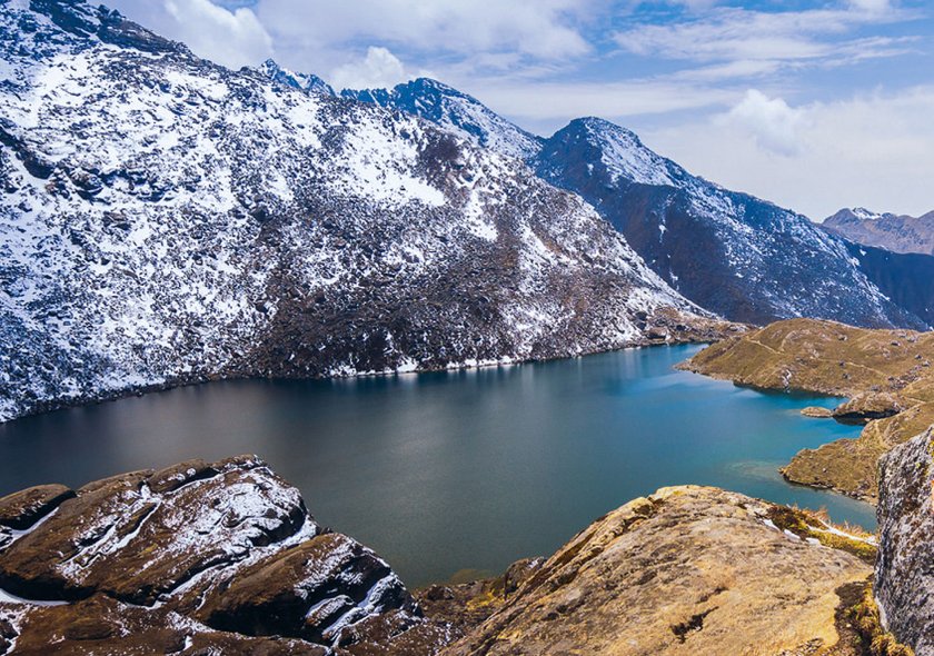
<instances>
[{"instance_id":1,"label":"small puffy white cloud billowing above the right-hand mountain slope","mask_svg":"<svg viewBox=\"0 0 934 656\"><path fill-rule=\"evenodd\" d=\"M745 130L759 147L772 152L793 156L802 150L804 111L792 109L781 98L769 98L762 91L749 89L743 101L722 120L727 126Z\"/></svg>"}]
</instances>

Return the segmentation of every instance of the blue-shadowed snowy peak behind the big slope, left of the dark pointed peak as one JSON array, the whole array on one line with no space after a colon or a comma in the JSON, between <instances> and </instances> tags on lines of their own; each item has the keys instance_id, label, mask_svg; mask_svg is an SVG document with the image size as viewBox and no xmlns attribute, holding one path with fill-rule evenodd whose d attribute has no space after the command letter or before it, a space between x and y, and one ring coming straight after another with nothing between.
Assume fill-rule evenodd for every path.
<instances>
[{"instance_id":1,"label":"blue-shadowed snowy peak behind the big slope, left of the dark pointed peak","mask_svg":"<svg viewBox=\"0 0 934 656\"><path fill-rule=\"evenodd\" d=\"M347 89L341 96L421 117L507 157L529 159L541 148L541 138L498 116L476 98L430 78L418 78L391 90Z\"/></svg>"}]
</instances>

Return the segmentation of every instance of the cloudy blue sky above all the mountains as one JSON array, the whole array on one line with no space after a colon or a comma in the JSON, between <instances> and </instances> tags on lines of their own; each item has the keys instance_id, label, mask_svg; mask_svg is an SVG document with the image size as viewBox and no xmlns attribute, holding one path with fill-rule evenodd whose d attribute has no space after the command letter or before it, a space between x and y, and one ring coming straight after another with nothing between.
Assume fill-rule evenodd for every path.
<instances>
[{"instance_id":1,"label":"cloudy blue sky above all the mountains","mask_svg":"<svg viewBox=\"0 0 934 656\"><path fill-rule=\"evenodd\" d=\"M812 218L934 209L934 7L915 0L115 0L231 67L429 76L549 135L602 116Z\"/></svg>"}]
</instances>

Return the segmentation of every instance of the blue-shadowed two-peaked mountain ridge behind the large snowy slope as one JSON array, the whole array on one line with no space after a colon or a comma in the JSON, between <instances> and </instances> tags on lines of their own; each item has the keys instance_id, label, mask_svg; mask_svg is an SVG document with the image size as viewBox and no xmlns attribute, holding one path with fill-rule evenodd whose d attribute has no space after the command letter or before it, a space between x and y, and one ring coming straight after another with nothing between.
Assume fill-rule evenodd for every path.
<instances>
[{"instance_id":1,"label":"blue-shadowed two-peaked mountain ridge behind the large snowy slope","mask_svg":"<svg viewBox=\"0 0 934 656\"><path fill-rule=\"evenodd\" d=\"M356 97L440 125L459 120L463 95L449 87L418 80L403 88ZM428 89L426 103L419 89ZM387 101L387 95L405 101ZM493 113L468 101L471 116ZM467 132L477 143L525 157L543 179L580 195L656 274L711 311L754 324L816 317L873 327L930 325L912 309L926 306L926 298L893 302L870 279L883 279L882 271L864 270L843 240L796 212L690 175L619 126L577 119L525 149L510 146L519 128L505 119L475 127Z\"/></svg>"}]
</instances>

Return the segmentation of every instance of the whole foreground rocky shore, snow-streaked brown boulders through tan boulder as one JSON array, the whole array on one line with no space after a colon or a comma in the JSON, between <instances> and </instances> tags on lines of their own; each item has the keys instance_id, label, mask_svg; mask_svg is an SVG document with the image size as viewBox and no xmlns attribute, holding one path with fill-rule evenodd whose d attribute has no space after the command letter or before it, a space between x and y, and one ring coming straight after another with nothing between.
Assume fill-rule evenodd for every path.
<instances>
[{"instance_id":1,"label":"whole foreground rocky shore, snow-streaked brown boulders through tan boulder","mask_svg":"<svg viewBox=\"0 0 934 656\"><path fill-rule=\"evenodd\" d=\"M0 499L0 654L865 656L874 557L816 516L682 486L548 559L411 594L259 458L195 460Z\"/></svg>"}]
</instances>

